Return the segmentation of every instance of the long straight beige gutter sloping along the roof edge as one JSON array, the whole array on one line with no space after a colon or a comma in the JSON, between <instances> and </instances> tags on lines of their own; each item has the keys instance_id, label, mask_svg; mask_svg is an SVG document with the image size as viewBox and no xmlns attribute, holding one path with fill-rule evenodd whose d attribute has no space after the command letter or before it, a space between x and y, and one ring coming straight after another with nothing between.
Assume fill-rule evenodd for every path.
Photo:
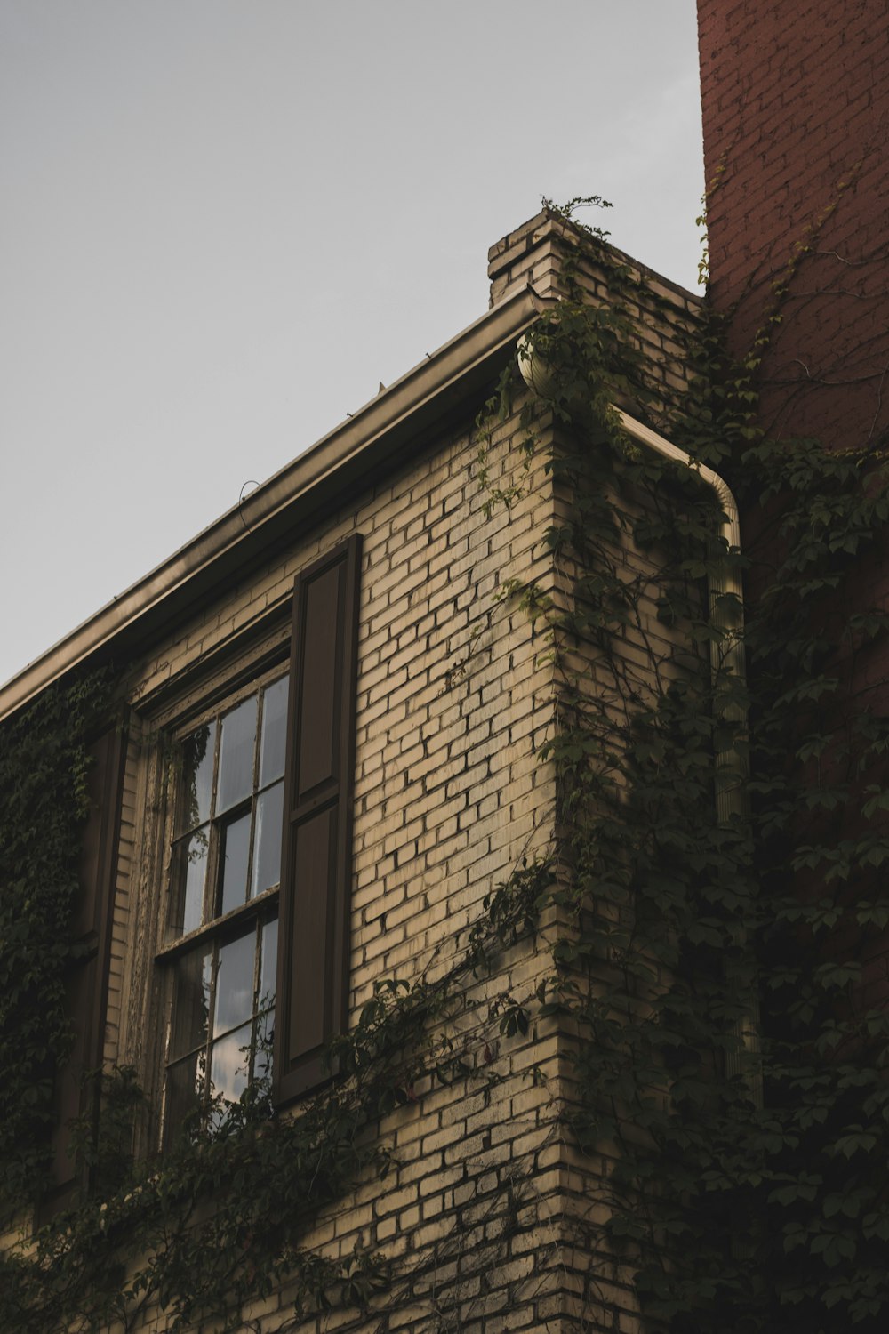
<instances>
[{"instance_id":1,"label":"long straight beige gutter sloping along the roof edge","mask_svg":"<svg viewBox=\"0 0 889 1334\"><path fill-rule=\"evenodd\" d=\"M295 531L341 508L381 466L416 452L484 390L514 355L516 339L554 304L530 285L498 301L17 672L0 688L0 720L88 660L137 652L225 580L248 576Z\"/></svg>"}]
</instances>

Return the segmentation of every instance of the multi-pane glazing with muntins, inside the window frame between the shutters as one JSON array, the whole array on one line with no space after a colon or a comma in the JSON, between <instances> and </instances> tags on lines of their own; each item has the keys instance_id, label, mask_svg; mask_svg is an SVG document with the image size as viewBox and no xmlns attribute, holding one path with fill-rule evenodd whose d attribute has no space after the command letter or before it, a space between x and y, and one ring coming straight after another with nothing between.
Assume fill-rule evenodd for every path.
<instances>
[{"instance_id":1,"label":"multi-pane glazing with muntins, inside the window frame between the shutters","mask_svg":"<svg viewBox=\"0 0 889 1334\"><path fill-rule=\"evenodd\" d=\"M168 939L195 942L172 958L167 1138L271 1077L287 691L281 676L180 743Z\"/></svg>"}]
</instances>

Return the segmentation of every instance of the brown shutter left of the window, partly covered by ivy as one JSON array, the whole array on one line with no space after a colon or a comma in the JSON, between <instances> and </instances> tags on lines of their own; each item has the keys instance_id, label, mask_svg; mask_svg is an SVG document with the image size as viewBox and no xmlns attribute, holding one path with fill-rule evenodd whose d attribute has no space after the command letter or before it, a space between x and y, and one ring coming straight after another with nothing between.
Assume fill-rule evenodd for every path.
<instances>
[{"instance_id":1,"label":"brown shutter left of the window, partly covered by ivy","mask_svg":"<svg viewBox=\"0 0 889 1334\"><path fill-rule=\"evenodd\" d=\"M75 1043L56 1078L52 1134L55 1189L45 1202L44 1214L68 1205L77 1185L81 1185L69 1153L71 1122L77 1117L89 1117L95 1133L99 1117L99 1089L84 1087L84 1075L101 1065L105 1037L111 914L123 790L124 747L120 728L104 732L89 747L89 755L93 762L88 776L89 815L80 854L80 891L71 928L77 958L65 978L67 1010Z\"/></svg>"}]
</instances>

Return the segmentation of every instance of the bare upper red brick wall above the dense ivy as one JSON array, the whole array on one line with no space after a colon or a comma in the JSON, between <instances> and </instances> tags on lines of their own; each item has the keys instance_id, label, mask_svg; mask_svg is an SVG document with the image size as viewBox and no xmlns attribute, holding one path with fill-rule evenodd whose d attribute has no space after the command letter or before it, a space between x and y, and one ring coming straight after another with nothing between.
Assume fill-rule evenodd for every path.
<instances>
[{"instance_id":1,"label":"bare upper red brick wall above the dense ivy","mask_svg":"<svg viewBox=\"0 0 889 1334\"><path fill-rule=\"evenodd\" d=\"M798 244L762 419L889 434L889 0L698 0L710 300L746 352Z\"/></svg>"}]
</instances>

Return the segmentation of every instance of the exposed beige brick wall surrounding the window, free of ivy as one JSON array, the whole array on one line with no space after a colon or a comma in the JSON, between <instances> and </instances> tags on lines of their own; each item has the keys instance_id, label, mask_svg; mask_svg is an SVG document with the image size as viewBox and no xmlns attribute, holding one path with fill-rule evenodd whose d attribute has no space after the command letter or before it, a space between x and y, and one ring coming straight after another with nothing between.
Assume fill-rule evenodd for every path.
<instances>
[{"instance_id":1,"label":"exposed beige brick wall surrounding the window, free of ivy","mask_svg":"<svg viewBox=\"0 0 889 1334\"><path fill-rule=\"evenodd\" d=\"M520 232L494 247L494 295L529 272L538 289L557 283L556 224L536 219ZM585 281L601 299L592 268ZM681 370L681 340L672 328L694 317L694 303L669 288L661 295L666 313L653 301L642 312L642 338L666 400ZM545 443L545 422L542 432ZM516 404L494 432L492 484L516 475L520 439ZM227 674L235 679L244 660L268 663L276 652L284 660L296 572L349 534L364 535L352 1017L375 982L444 970L484 895L522 856L550 847L553 775L536 752L553 720L552 668L538 662L541 632L496 594L508 578L537 578L556 588L540 539L564 498L553 494L542 450L510 510L485 518L477 450L477 435L466 427L403 463L317 530L295 534L275 560L208 602L132 667L105 1055L137 1067L155 1109L169 1006L156 963L168 879L165 738L188 728L208 691L224 698L221 683ZM637 558L629 548L622 554L630 563ZM652 608L641 615L650 628ZM630 635L628 656L633 651ZM216 666L203 676L209 660ZM304 1238L331 1258L356 1246L381 1250L395 1262L392 1289L369 1315L335 1305L288 1329L634 1329L625 1275L589 1241L589 1225L594 1229L602 1211L597 1182L609 1171L608 1153L578 1159L558 1119L569 1087L564 1042L552 1022L533 1042L506 1039L489 1013L504 990L529 998L550 966L544 932L505 952L500 971L469 988L454 1031L469 1063L500 1082L490 1089L469 1078L419 1090L417 1103L380 1126L397 1167L321 1211ZM155 1115L140 1127L139 1150L156 1150L157 1138ZM287 1289L264 1299L244 1313L244 1327L271 1334L292 1301ZM133 1326L164 1327L156 1309Z\"/></svg>"}]
</instances>

